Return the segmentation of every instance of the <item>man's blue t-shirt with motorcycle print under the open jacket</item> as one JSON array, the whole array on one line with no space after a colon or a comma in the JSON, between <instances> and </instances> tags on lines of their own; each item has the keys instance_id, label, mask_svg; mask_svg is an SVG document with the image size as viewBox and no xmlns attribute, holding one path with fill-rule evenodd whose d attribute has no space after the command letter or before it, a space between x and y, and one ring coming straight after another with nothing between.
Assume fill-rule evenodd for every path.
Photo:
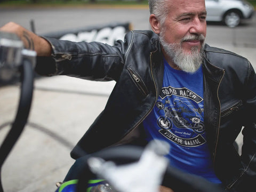
<instances>
[{"instance_id":1,"label":"man's blue t-shirt with motorcycle print under the open jacket","mask_svg":"<svg viewBox=\"0 0 256 192\"><path fill-rule=\"evenodd\" d=\"M213 171L204 127L203 70L190 74L164 60L162 92L143 121L147 140L167 141L170 165L221 183Z\"/></svg>"}]
</instances>

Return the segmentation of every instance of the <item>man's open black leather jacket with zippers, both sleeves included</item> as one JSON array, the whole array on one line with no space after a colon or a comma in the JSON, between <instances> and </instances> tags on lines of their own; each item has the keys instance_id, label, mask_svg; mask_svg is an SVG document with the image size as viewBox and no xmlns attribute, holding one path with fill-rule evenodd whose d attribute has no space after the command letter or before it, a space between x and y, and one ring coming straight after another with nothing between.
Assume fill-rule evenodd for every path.
<instances>
[{"instance_id":1,"label":"man's open black leather jacket with zippers, both sleeves included","mask_svg":"<svg viewBox=\"0 0 256 192\"><path fill-rule=\"evenodd\" d=\"M131 31L115 46L46 38L54 61L38 60L42 75L116 81L106 108L71 152L73 158L141 139L141 122L153 109L163 82L163 55L152 31ZM204 114L215 172L230 191L255 191L256 75L250 62L205 45ZM242 156L233 142L244 126ZM81 152L83 151L83 152Z\"/></svg>"}]
</instances>

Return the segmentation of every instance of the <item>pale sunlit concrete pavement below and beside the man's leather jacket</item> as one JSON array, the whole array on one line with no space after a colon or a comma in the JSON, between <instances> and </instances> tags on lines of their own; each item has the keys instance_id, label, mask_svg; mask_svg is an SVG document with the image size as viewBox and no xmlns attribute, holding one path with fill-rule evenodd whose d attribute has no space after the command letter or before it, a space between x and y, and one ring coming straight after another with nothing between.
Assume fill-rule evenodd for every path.
<instances>
[{"instance_id":1,"label":"pale sunlit concrete pavement below and beside the man's leather jacket","mask_svg":"<svg viewBox=\"0 0 256 192\"><path fill-rule=\"evenodd\" d=\"M249 58L256 69L255 48L223 48ZM67 76L35 79L28 123L2 167L4 191L57 189L55 182L62 181L74 163L70 150L103 110L114 85ZM18 84L0 87L0 141L10 129L18 98ZM241 135L237 141L241 146Z\"/></svg>"}]
</instances>

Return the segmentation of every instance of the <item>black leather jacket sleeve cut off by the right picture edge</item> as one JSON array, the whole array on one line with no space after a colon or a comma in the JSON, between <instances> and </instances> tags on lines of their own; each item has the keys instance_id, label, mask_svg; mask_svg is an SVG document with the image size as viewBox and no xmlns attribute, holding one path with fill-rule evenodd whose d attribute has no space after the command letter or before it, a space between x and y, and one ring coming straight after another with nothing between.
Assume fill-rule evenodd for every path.
<instances>
[{"instance_id":1,"label":"black leather jacket sleeve cut off by the right picture edge","mask_svg":"<svg viewBox=\"0 0 256 192\"><path fill-rule=\"evenodd\" d=\"M254 191L256 181L256 75L250 63L247 77L244 83L246 116L241 156L244 170L235 186L237 191Z\"/></svg>"}]
</instances>

